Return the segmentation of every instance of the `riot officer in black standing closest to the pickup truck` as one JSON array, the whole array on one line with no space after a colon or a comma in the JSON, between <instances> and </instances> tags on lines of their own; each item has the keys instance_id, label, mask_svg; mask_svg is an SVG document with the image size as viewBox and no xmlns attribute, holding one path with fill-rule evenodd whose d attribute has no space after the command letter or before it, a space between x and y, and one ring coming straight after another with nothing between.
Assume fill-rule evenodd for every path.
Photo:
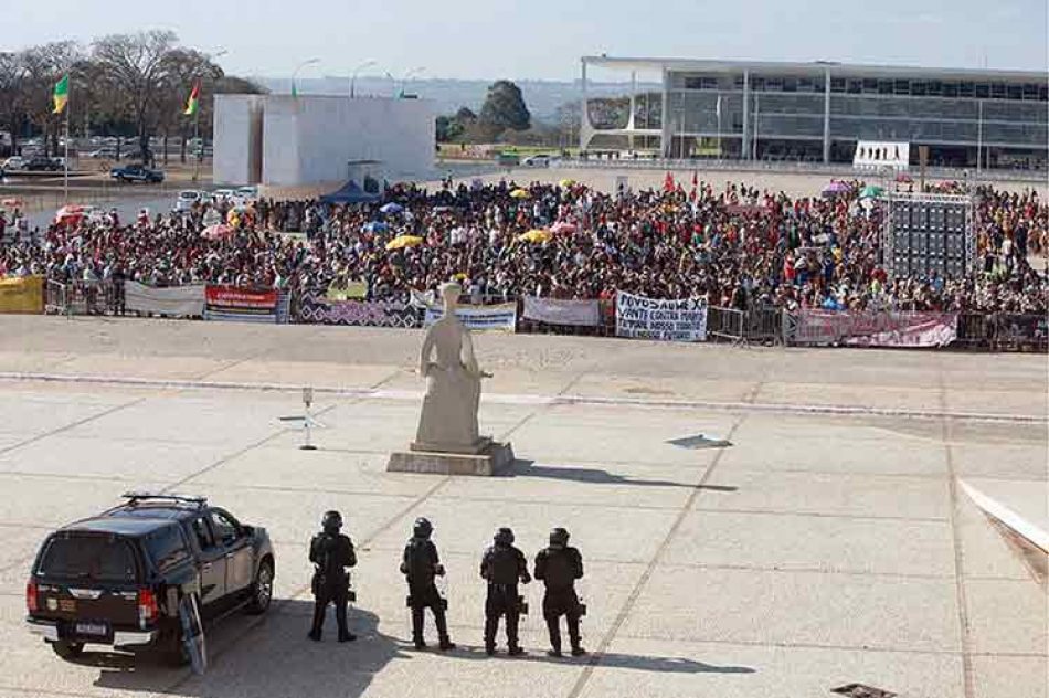
<instances>
[{"instance_id":1,"label":"riot officer in black standing closest to the pickup truck","mask_svg":"<svg viewBox=\"0 0 1049 698\"><path fill-rule=\"evenodd\" d=\"M308 637L320 639L328 604L335 604L335 617L339 624L339 642L357 639L346 625L346 604L349 602L350 575L346 568L357 564L353 542L340 533L342 515L326 511L321 520L324 530L309 541L309 561L314 563L314 625Z\"/></svg>"}]
</instances>

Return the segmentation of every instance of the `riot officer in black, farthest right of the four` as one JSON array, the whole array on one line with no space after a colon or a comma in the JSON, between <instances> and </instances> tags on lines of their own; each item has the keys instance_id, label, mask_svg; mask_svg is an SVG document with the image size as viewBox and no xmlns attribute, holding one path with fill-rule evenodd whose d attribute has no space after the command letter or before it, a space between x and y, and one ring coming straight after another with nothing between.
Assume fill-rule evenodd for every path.
<instances>
[{"instance_id":1,"label":"riot officer in black, farthest right of the four","mask_svg":"<svg viewBox=\"0 0 1049 698\"><path fill-rule=\"evenodd\" d=\"M583 557L569 546L569 532L563 528L550 531L550 547L536 556L536 579L547 585L543 594L542 614L550 633L551 657L561 656L561 616L569 626L572 656L586 654L580 645L579 620L582 606L575 595L575 580L583 577Z\"/></svg>"}]
</instances>

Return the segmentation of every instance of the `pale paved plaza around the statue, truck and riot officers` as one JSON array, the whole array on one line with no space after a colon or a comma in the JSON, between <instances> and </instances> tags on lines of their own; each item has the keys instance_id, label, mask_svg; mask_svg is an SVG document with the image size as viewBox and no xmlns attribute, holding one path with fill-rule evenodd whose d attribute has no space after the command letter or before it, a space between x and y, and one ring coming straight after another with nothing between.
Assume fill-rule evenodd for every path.
<instances>
[{"instance_id":1,"label":"pale paved plaza around the statue, truck and riot officers","mask_svg":"<svg viewBox=\"0 0 1049 698\"><path fill-rule=\"evenodd\" d=\"M414 435L421 340L0 318L0 697L1049 696L1045 556L960 485L1047 491L1045 356L477 336L481 427L513 444L513 474L388 474ZM303 385L327 427L315 452L278 419ZM274 540L274 607L211 628L204 676L65 663L24 627L42 537L139 488L206 495ZM306 639L329 508L360 559L346 645L330 617ZM449 572L448 654L410 647L398 564L417 516ZM536 584L528 656L485 656L477 569L498 526L530 560L571 531L589 657L544 655Z\"/></svg>"}]
</instances>

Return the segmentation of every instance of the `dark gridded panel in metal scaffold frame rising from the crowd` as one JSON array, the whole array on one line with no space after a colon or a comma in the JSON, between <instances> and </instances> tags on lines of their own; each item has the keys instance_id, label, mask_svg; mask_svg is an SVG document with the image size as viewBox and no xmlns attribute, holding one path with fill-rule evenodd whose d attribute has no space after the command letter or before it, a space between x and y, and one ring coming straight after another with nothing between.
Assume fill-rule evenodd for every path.
<instances>
[{"instance_id":1,"label":"dark gridded panel in metal scaffold frame rising from the crowd","mask_svg":"<svg viewBox=\"0 0 1049 698\"><path fill-rule=\"evenodd\" d=\"M886 202L881 248L890 278L960 278L976 269L971 197L889 192Z\"/></svg>"}]
</instances>

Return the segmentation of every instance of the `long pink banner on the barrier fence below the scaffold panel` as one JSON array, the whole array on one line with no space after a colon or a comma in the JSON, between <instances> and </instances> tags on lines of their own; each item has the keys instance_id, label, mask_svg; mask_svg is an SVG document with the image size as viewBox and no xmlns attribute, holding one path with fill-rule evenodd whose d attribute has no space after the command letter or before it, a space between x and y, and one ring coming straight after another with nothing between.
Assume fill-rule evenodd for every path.
<instances>
[{"instance_id":1,"label":"long pink banner on the barrier fence below the scaffold panel","mask_svg":"<svg viewBox=\"0 0 1049 698\"><path fill-rule=\"evenodd\" d=\"M957 338L957 313L840 311L797 314L797 345L945 347Z\"/></svg>"}]
</instances>

